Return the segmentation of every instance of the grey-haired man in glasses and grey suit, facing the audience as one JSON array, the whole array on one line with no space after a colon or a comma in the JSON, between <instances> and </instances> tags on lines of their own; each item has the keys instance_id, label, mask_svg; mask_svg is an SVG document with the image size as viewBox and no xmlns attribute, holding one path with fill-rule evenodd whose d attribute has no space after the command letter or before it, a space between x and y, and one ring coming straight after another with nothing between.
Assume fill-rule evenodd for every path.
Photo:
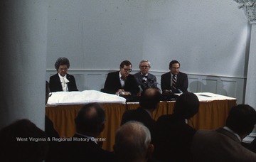
<instances>
[{"instance_id":1,"label":"grey-haired man in glasses and grey suit, facing the audience","mask_svg":"<svg viewBox=\"0 0 256 162\"><path fill-rule=\"evenodd\" d=\"M149 73L150 68L149 60L142 60L139 63L140 72L134 74L141 91L147 87L157 87L156 76Z\"/></svg>"}]
</instances>

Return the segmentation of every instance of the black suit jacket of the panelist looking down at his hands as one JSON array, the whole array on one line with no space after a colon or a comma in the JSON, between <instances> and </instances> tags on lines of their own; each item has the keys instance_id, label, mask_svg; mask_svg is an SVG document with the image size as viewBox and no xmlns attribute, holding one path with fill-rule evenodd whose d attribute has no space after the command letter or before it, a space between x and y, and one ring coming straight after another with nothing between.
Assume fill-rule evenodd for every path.
<instances>
[{"instance_id":1,"label":"black suit jacket of the panelist looking down at his hands","mask_svg":"<svg viewBox=\"0 0 256 162\"><path fill-rule=\"evenodd\" d=\"M119 71L108 73L104 85L104 90L102 91L110 94L115 94L115 92L117 92L119 89L124 89L124 91L130 92L132 95L137 95L137 92L139 92L139 87L134 78L134 75L128 75L127 80L125 81L124 88L122 88L119 79Z\"/></svg>"}]
</instances>

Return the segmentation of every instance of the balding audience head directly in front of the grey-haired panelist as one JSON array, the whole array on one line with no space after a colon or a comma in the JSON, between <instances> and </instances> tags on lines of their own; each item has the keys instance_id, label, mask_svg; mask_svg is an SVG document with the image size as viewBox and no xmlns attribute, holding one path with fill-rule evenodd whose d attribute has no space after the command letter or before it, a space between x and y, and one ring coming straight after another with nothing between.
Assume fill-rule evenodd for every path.
<instances>
[{"instance_id":1,"label":"balding audience head directly in front of the grey-haired panelist","mask_svg":"<svg viewBox=\"0 0 256 162\"><path fill-rule=\"evenodd\" d=\"M159 106L161 92L157 87L149 87L142 91L139 105L144 109L154 110Z\"/></svg>"}]
</instances>

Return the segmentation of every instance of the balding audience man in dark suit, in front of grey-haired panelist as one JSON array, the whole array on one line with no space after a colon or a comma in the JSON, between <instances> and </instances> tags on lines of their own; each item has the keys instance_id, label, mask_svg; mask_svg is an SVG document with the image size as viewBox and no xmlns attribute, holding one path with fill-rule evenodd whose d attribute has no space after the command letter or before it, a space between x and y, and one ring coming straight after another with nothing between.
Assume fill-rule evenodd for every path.
<instances>
[{"instance_id":1,"label":"balding audience man in dark suit, in front of grey-haired panelist","mask_svg":"<svg viewBox=\"0 0 256 162\"><path fill-rule=\"evenodd\" d=\"M142 122L151 132L152 138L154 138L156 121L152 119L151 112L159 106L160 97L161 93L156 87L150 87L144 90L139 99L140 107L124 112L121 125L132 120Z\"/></svg>"}]
</instances>

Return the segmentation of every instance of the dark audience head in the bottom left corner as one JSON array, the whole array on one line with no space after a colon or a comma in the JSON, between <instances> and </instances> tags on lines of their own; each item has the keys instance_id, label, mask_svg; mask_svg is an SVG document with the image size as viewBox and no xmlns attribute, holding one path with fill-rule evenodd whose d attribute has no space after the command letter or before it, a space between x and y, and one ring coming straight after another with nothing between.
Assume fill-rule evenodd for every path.
<instances>
[{"instance_id":1,"label":"dark audience head in the bottom left corner","mask_svg":"<svg viewBox=\"0 0 256 162\"><path fill-rule=\"evenodd\" d=\"M48 152L44 131L28 119L15 121L0 131L1 161L43 161Z\"/></svg>"}]
</instances>

